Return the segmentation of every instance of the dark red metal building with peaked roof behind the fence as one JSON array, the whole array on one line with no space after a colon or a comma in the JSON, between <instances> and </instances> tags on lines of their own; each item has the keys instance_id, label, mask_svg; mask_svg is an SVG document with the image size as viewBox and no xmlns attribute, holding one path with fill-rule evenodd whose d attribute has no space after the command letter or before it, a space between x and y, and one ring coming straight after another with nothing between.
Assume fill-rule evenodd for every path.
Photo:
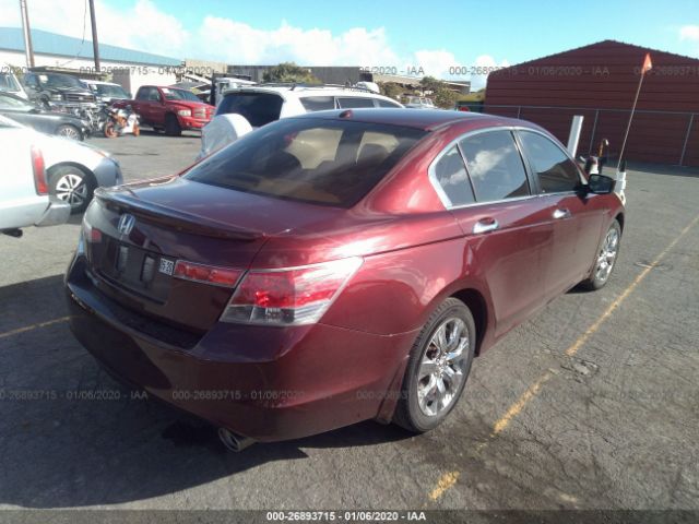
<instances>
[{"instance_id":1,"label":"dark red metal building with peaked roof behind the fence","mask_svg":"<svg viewBox=\"0 0 699 524\"><path fill-rule=\"evenodd\" d=\"M512 66L488 76L484 111L541 124L566 143L584 116L579 154L603 138L618 156L645 53L645 73L625 157L699 166L699 60L615 40Z\"/></svg>"}]
</instances>

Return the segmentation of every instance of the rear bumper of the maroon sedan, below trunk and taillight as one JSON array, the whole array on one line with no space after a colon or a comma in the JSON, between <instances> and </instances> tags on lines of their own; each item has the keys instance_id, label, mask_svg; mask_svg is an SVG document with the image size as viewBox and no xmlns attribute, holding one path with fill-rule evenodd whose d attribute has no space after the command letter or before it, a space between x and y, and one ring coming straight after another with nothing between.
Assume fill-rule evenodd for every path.
<instances>
[{"instance_id":1,"label":"rear bumper of the maroon sedan, below trunk and taillight","mask_svg":"<svg viewBox=\"0 0 699 524\"><path fill-rule=\"evenodd\" d=\"M71 264L66 284L72 332L112 374L259 441L387 418L415 336L217 323L183 348L127 325L92 285L84 259Z\"/></svg>"}]
</instances>

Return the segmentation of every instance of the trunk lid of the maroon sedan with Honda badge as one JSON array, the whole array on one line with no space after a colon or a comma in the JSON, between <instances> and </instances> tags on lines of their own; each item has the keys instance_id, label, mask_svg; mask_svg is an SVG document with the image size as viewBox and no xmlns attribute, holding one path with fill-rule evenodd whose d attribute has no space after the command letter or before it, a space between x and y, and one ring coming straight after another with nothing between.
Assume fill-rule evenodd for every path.
<instances>
[{"instance_id":1,"label":"trunk lid of the maroon sedan with Honda badge","mask_svg":"<svg viewBox=\"0 0 699 524\"><path fill-rule=\"evenodd\" d=\"M270 236L309 219L296 210L303 204L179 177L95 195L85 236L97 287L129 310L201 333L217 321L233 286L176 277L177 261L242 272Z\"/></svg>"}]
</instances>

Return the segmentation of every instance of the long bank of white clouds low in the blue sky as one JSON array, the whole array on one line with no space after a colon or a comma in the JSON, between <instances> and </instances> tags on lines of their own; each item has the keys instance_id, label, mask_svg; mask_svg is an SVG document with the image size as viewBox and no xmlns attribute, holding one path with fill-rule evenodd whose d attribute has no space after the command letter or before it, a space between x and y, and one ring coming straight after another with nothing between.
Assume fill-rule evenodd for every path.
<instances>
[{"instance_id":1,"label":"long bank of white clouds low in the blue sky","mask_svg":"<svg viewBox=\"0 0 699 524\"><path fill-rule=\"evenodd\" d=\"M261 8L263 9L263 8ZM85 17L84 0L32 0L29 20L33 28L92 39L90 13ZM383 27L354 27L333 34L323 28L301 28L282 22L279 27L260 29L228 17L206 16L198 27L187 31L179 20L152 0L137 0L131 7L112 8L95 0L99 41L175 58L200 58L238 64L274 64L295 61L306 66L393 67L405 64L423 68L425 74L453 80L467 80L467 74L449 74L462 66L445 49L422 49L399 53ZM0 0L2 25L20 26L16 0ZM78 52L78 49L75 50ZM500 64L506 63L505 61ZM476 58L473 64L495 66L489 56ZM460 71L461 72L461 71ZM473 76L473 85L485 78Z\"/></svg>"}]
</instances>

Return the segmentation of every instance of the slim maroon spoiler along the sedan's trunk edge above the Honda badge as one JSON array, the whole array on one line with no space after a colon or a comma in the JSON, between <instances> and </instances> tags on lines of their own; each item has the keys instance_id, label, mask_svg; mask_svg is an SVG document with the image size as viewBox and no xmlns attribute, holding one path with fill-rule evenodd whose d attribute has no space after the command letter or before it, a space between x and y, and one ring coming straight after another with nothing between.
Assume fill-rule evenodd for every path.
<instances>
[{"instance_id":1,"label":"slim maroon spoiler along the sedan's trunk edge above the Honda badge","mask_svg":"<svg viewBox=\"0 0 699 524\"><path fill-rule=\"evenodd\" d=\"M121 189L128 190L128 188L125 187L121 187ZM118 213L128 212L135 216L142 216L150 222L169 229L177 229L204 237L227 238L241 241L253 241L265 237L263 231L236 228L229 224L183 213L140 199L132 199L123 193L114 193L103 188L95 190L95 198L108 210Z\"/></svg>"}]
</instances>

